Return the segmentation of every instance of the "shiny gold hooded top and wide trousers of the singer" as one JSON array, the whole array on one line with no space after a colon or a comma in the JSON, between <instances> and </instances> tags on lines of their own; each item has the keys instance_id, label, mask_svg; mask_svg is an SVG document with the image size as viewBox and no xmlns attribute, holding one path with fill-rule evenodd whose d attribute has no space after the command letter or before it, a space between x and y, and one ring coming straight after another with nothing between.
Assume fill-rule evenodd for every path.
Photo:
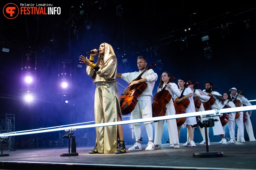
<instances>
[{"instance_id":1,"label":"shiny gold hooded top and wide trousers of the singer","mask_svg":"<svg viewBox=\"0 0 256 170\"><path fill-rule=\"evenodd\" d=\"M94 101L95 124L117 122L117 114L122 120L116 84L117 60L112 46L107 43L105 43L104 64L101 61L99 67L98 71L90 66L86 68L86 73L94 78L97 86ZM96 141L98 153L115 153L117 125L96 127Z\"/></svg>"}]
</instances>

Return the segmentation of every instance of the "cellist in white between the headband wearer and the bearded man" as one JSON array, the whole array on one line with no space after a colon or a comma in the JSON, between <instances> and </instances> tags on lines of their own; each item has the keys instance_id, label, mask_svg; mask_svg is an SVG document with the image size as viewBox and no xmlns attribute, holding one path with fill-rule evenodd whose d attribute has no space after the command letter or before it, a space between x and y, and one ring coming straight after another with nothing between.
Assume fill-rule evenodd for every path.
<instances>
[{"instance_id":1,"label":"cellist in white between the headband wearer and the bearded man","mask_svg":"<svg viewBox=\"0 0 256 170\"><path fill-rule=\"evenodd\" d=\"M202 101L202 100L207 101L207 100L210 99L210 96L207 96L206 94L204 94L200 89L198 90L198 89L194 88L194 81L191 81L191 80L189 80L189 81L190 81L191 84L188 87L190 87L191 90L193 91L194 97L198 98L200 101ZM198 112L201 112L201 111L204 111L203 102L201 102L200 108L198 109ZM203 120L205 120L205 118L200 118L200 119L201 119L201 122ZM194 132L194 129L195 128L193 127L192 128L193 132ZM204 145L205 144L204 127L203 128L199 127L199 129L200 129L201 135L203 137L203 141L200 143L200 145ZM210 141L209 140L209 128L207 128L207 135L208 135L208 145L210 145L210 142L209 142ZM187 134L187 136L188 136L188 134Z\"/></svg>"}]
</instances>

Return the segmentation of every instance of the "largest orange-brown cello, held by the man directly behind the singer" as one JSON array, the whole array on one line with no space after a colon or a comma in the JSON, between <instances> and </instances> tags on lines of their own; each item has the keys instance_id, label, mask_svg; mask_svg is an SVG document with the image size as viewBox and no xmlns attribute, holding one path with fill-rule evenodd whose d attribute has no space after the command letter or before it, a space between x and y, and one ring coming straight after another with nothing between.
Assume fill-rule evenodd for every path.
<instances>
[{"instance_id":1,"label":"largest orange-brown cello, held by the man directly behind the singer","mask_svg":"<svg viewBox=\"0 0 256 170\"><path fill-rule=\"evenodd\" d=\"M156 63L153 62L151 66L148 66L136 79L133 81L137 81L142 79L141 76L149 69L156 67ZM121 113L122 115L127 115L131 113L137 102L138 97L140 94L144 92L144 90L147 88L147 83L142 82L139 84L132 85L131 87L126 87L126 89L122 92L122 94L119 97L120 100L120 107L121 107Z\"/></svg>"}]
</instances>

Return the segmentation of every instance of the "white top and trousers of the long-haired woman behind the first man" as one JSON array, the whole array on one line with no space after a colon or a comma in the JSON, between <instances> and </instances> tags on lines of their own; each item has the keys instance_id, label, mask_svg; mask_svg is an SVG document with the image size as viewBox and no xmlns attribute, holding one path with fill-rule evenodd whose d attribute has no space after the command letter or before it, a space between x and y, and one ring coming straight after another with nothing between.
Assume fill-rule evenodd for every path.
<instances>
[{"instance_id":1,"label":"white top and trousers of the long-haired woman behind the first man","mask_svg":"<svg viewBox=\"0 0 256 170\"><path fill-rule=\"evenodd\" d=\"M180 97L180 90L178 89L178 86L175 83L169 83L171 85L171 88L166 87L165 89L169 91L169 93L174 96L174 94L178 97ZM162 89L164 88L165 84L163 84ZM162 89L157 89L157 91L161 91ZM175 108L173 105L172 99L169 103L165 106L167 108L165 115L175 115ZM168 126L168 133L169 133L169 140L170 144L179 144L179 137L178 137L178 130L177 130L177 123L176 119L169 119L167 121ZM164 126L165 120L160 120L158 122L155 122L155 138L154 138L154 144L155 145L161 145L162 144L162 135L163 135L163 126Z\"/></svg>"}]
</instances>

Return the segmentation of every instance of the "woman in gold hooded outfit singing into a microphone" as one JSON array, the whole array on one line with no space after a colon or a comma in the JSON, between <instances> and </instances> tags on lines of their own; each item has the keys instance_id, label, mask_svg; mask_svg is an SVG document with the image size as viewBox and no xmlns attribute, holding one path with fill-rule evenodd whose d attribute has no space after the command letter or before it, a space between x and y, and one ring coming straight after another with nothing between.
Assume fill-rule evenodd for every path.
<instances>
[{"instance_id":1,"label":"woman in gold hooded outfit singing into a microphone","mask_svg":"<svg viewBox=\"0 0 256 170\"><path fill-rule=\"evenodd\" d=\"M90 60L82 55L79 60L82 61L80 63L87 65L86 72L97 86L94 102L95 124L121 121L122 115L116 84L117 60L114 50L110 44L100 44L95 64L93 61L98 51L97 49L92 51L94 54L91 54ZM119 154L125 152L122 125L96 127L96 145L89 153Z\"/></svg>"}]
</instances>

